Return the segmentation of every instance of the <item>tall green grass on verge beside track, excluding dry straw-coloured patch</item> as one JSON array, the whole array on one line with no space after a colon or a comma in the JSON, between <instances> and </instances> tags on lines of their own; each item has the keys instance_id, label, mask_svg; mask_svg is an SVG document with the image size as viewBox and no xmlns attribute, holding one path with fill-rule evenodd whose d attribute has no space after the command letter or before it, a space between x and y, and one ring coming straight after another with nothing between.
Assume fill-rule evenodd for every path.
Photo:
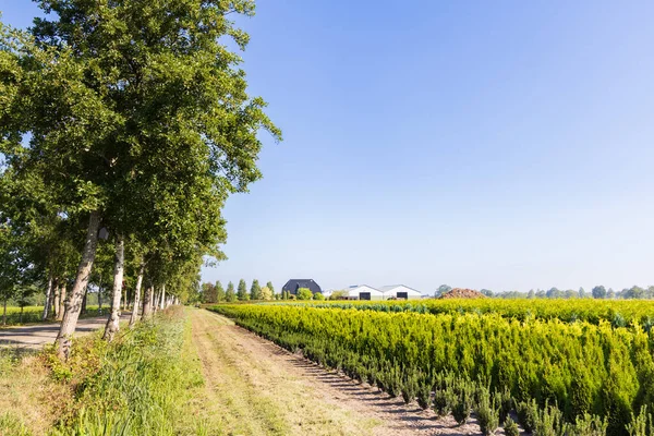
<instances>
[{"instance_id":1,"label":"tall green grass on verge beside track, excluding dry straw-coloured patch","mask_svg":"<svg viewBox=\"0 0 654 436\"><path fill-rule=\"evenodd\" d=\"M179 435L203 434L189 404L204 380L185 339L190 324L182 307L160 313L112 343L98 335L76 340L68 362L53 350L38 359L53 385L70 397L58 401L51 427L31 433L26 415L0 413L0 435ZM1 379L2 377L0 377ZM1 380L0 380L1 382ZM22 424L23 423L23 424Z\"/></svg>"}]
</instances>

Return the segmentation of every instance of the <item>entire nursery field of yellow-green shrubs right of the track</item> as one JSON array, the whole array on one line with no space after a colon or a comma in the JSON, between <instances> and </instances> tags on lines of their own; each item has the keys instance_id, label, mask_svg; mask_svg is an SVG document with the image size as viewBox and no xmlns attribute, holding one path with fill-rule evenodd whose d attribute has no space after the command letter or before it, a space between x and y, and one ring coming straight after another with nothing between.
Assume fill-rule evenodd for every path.
<instances>
[{"instance_id":1,"label":"entire nursery field of yellow-green shrubs right of the track","mask_svg":"<svg viewBox=\"0 0 654 436\"><path fill-rule=\"evenodd\" d=\"M264 338L484 433L649 435L651 316L631 301L217 305Z\"/></svg>"}]
</instances>

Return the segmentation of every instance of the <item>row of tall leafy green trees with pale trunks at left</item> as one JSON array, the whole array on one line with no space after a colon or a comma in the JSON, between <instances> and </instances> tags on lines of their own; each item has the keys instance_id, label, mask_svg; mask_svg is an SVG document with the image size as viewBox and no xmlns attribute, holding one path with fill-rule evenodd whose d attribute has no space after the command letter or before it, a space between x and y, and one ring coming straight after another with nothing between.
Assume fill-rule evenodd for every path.
<instances>
[{"instance_id":1,"label":"row of tall leafy green trees with pale trunks at left","mask_svg":"<svg viewBox=\"0 0 654 436\"><path fill-rule=\"evenodd\" d=\"M252 0L37 3L28 32L0 23L0 296L43 289L44 317L58 296L65 359L88 290L110 289L111 340L125 287L147 316L199 286L280 132L226 40L245 48Z\"/></svg>"}]
</instances>

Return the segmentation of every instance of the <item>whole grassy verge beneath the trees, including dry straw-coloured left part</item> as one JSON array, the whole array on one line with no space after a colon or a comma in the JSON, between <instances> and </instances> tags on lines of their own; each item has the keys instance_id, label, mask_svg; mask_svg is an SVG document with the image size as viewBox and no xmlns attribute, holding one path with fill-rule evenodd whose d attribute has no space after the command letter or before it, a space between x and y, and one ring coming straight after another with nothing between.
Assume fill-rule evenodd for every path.
<instances>
[{"instance_id":1,"label":"whole grassy verge beneath the trees, including dry straw-coloured left part","mask_svg":"<svg viewBox=\"0 0 654 436\"><path fill-rule=\"evenodd\" d=\"M51 350L0 355L0 435L207 434L192 400L204 379L181 307L112 343L76 341L66 363ZM7 393L7 395L5 395Z\"/></svg>"}]
</instances>

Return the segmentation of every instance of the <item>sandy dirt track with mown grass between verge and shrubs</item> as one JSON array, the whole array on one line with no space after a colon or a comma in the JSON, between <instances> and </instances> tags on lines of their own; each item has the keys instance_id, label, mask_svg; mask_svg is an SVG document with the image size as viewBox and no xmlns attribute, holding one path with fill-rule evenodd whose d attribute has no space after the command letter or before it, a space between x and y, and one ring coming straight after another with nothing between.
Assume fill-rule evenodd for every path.
<instances>
[{"instance_id":1,"label":"sandy dirt track with mown grass between verge and shrubs","mask_svg":"<svg viewBox=\"0 0 654 436\"><path fill-rule=\"evenodd\" d=\"M474 419L458 426L417 404L328 372L235 326L191 311L192 337L204 374L203 415L209 434L229 435L480 435ZM501 429L497 434L502 434Z\"/></svg>"}]
</instances>

